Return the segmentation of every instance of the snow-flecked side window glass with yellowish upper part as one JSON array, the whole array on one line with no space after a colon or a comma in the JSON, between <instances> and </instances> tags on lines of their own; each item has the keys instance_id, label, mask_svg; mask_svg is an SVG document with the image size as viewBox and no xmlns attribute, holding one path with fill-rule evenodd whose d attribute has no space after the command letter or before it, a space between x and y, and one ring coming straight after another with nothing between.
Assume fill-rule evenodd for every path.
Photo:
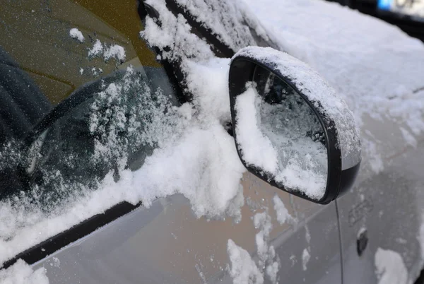
<instances>
[{"instance_id":1,"label":"snow-flecked side window glass with yellowish upper part","mask_svg":"<svg viewBox=\"0 0 424 284\"><path fill-rule=\"evenodd\" d=\"M0 20L0 199L49 210L141 167L178 102L136 1L4 1Z\"/></svg>"}]
</instances>

